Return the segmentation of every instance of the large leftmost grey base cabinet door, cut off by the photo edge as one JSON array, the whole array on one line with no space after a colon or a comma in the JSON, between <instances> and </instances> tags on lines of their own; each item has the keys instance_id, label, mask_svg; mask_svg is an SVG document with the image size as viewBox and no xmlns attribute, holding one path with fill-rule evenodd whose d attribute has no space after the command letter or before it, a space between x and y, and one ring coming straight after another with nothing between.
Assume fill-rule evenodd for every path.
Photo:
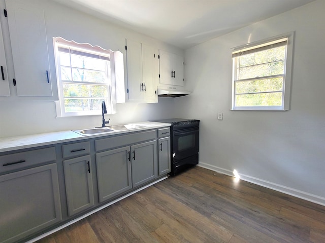
<instances>
[{"instance_id":1,"label":"large leftmost grey base cabinet door, cut off by the photo edge","mask_svg":"<svg viewBox=\"0 0 325 243\"><path fill-rule=\"evenodd\" d=\"M0 176L0 242L15 242L61 221L56 164Z\"/></svg>"}]
</instances>

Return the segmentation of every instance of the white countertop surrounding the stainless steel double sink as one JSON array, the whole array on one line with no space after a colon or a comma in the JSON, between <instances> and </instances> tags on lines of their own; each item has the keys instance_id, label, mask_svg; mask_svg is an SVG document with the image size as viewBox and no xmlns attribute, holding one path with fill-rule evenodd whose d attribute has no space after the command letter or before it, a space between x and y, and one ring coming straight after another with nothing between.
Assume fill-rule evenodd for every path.
<instances>
[{"instance_id":1,"label":"white countertop surrounding the stainless steel double sink","mask_svg":"<svg viewBox=\"0 0 325 243\"><path fill-rule=\"evenodd\" d=\"M26 136L0 138L0 153L18 150L18 149L24 149L24 148L51 145L56 143L72 142L72 141L84 140L88 138L97 138L103 136L110 136L110 135L136 132L136 131L144 131L149 129L171 126L171 124L168 123L156 123L154 121L144 121L144 122L132 123L132 124L143 126L143 128L136 128L131 130L123 130L123 131L122 130L112 131L112 132L92 134L92 135L80 135L73 131L60 131L60 132L51 132L51 133L32 134ZM113 125L113 126L117 126L117 125Z\"/></svg>"}]
</instances>

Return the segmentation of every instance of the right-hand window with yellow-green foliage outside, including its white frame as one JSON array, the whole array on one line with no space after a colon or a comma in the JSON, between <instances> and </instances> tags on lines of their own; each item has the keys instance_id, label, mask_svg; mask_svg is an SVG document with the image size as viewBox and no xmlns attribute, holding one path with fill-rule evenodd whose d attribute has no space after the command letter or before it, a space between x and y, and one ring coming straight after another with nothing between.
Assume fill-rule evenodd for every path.
<instances>
[{"instance_id":1,"label":"right-hand window with yellow-green foliage outside, including its white frame","mask_svg":"<svg viewBox=\"0 0 325 243\"><path fill-rule=\"evenodd\" d=\"M287 110L293 33L233 51L232 110Z\"/></svg>"}]
</instances>

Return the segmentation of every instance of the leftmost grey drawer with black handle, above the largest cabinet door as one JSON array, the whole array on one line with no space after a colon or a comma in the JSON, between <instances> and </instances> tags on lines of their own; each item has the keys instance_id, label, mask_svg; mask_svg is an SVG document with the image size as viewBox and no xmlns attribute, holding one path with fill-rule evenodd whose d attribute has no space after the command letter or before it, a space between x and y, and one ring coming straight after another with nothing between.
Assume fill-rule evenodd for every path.
<instances>
[{"instance_id":1,"label":"leftmost grey drawer with black handle, above the largest cabinet door","mask_svg":"<svg viewBox=\"0 0 325 243\"><path fill-rule=\"evenodd\" d=\"M0 156L0 173L20 170L49 161L56 161L55 148L42 148Z\"/></svg>"}]
</instances>

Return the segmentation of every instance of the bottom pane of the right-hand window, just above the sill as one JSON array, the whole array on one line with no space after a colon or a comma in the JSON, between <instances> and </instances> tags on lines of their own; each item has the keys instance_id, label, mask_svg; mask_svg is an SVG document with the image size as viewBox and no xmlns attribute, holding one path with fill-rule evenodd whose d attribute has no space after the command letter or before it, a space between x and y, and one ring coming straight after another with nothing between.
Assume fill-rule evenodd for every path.
<instances>
[{"instance_id":1,"label":"bottom pane of the right-hand window, just above the sill","mask_svg":"<svg viewBox=\"0 0 325 243\"><path fill-rule=\"evenodd\" d=\"M281 106L282 92L236 95L236 106Z\"/></svg>"}]
</instances>

